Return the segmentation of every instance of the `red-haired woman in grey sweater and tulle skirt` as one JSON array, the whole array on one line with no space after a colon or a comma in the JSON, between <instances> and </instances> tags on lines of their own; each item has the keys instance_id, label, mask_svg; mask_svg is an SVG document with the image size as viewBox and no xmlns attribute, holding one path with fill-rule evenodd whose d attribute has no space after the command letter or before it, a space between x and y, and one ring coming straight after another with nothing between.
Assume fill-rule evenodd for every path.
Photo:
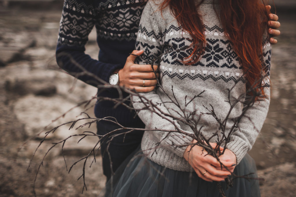
<instances>
[{"instance_id":1,"label":"red-haired woman in grey sweater and tulle skirt","mask_svg":"<svg viewBox=\"0 0 296 197\"><path fill-rule=\"evenodd\" d=\"M271 45L266 31L267 11L257 0L148 1L136 42L136 49L144 50L145 56L138 63L152 63L163 53L158 60L162 88L133 96L133 106L147 130L181 133L146 131L141 143L144 156L131 160L114 196L219 196L212 181L223 181L230 172L239 176L256 172L246 154L269 106ZM262 78L264 86L260 86ZM248 92L250 87L253 91ZM246 93L255 103L244 112L248 102L236 101ZM151 100L158 110L147 109L141 97ZM206 114L211 107L216 117ZM159 112L167 115L160 117ZM228 117L228 135L242 113L229 142L221 148L225 149L219 156L224 168L201 146L185 146L195 141L184 117L193 114L196 130L215 147L217 120ZM260 196L257 180L235 179L229 190L226 183L220 185L226 196Z\"/></svg>"}]
</instances>

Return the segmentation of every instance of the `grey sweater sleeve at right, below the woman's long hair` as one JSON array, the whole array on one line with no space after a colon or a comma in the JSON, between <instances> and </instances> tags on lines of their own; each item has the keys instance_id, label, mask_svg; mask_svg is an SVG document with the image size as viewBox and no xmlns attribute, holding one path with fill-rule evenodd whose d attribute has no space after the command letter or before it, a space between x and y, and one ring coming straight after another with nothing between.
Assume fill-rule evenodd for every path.
<instances>
[{"instance_id":1,"label":"grey sweater sleeve at right, below the woman's long hair","mask_svg":"<svg viewBox=\"0 0 296 197\"><path fill-rule=\"evenodd\" d=\"M227 144L227 149L231 150L237 157L237 164L242 160L245 154L252 148L255 140L261 130L266 119L268 107L270 103L270 59L271 59L271 44L266 41L263 46L263 70L266 73L266 78L263 79L265 99L256 101L254 105L248 109L241 118L238 128L230 137L230 142Z\"/></svg>"}]
</instances>

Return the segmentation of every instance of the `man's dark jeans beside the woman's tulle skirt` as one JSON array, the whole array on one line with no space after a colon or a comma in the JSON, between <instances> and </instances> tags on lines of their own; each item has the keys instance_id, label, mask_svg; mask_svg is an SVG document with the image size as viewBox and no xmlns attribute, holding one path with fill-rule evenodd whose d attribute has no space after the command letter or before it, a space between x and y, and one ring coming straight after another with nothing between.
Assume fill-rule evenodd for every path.
<instances>
[{"instance_id":1,"label":"man's dark jeans beside the woman's tulle skirt","mask_svg":"<svg viewBox=\"0 0 296 197\"><path fill-rule=\"evenodd\" d=\"M115 123L111 123L108 121L99 121L97 122L96 126L98 135L105 135L107 133L110 133L110 131L114 131L115 129L120 128ZM144 124L141 122L138 125L133 125L129 127L144 128ZM118 167L124 162L124 160L141 144L141 139L144 133L143 131L132 131L130 133L127 133L126 135L122 134L116 136L110 141L112 135L123 133L126 131L128 130L116 131L115 133L112 133L106 137L100 138L103 172L104 175L107 177L107 181L110 180L112 171L115 172ZM112 161L112 171L110 160Z\"/></svg>"}]
</instances>

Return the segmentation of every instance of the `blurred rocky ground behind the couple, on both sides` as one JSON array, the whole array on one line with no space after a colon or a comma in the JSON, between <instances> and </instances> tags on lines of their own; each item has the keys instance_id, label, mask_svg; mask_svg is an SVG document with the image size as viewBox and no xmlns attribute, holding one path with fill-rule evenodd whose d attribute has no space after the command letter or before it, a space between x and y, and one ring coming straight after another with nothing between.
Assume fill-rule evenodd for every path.
<instances>
[{"instance_id":1,"label":"blurred rocky ground behind the couple, on both sides","mask_svg":"<svg viewBox=\"0 0 296 197\"><path fill-rule=\"evenodd\" d=\"M68 130L70 125L59 128L44 141L26 171L45 131L86 117L78 116L85 108L76 107L65 117L52 120L96 94L94 87L74 81L55 62L61 11L62 1L11 1L0 5L0 196L32 196L36 170L52 142L82 131L96 131L95 125L78 130ZM281 36L273 47L271 105L250 154L259 177L265 179L260 182L262 196L292 197L296 193L296 14L283 3L277 13ZM97 58L94 31L86 49ZM90 108L86 112L94 117L92 111ZM64 147L68 169L92 149L97 139L77 141L69 139ZM36 179L37 196L97 196L105 178L100 157L89 168L91 161L88 159L86 164L88 190L81 194L83 183L77 179L83 164L78 163L68 174L61 146L52 149Z\"/></svg>"}]
</instances>

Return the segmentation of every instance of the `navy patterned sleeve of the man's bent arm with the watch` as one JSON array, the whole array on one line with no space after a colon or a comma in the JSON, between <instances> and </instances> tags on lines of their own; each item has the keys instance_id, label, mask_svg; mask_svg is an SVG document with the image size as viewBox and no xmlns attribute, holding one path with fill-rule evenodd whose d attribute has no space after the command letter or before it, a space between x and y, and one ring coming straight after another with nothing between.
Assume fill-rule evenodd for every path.
<instances>
[{"instance_id":1,"label":"navy patterned sleeve of the man's bent arm with the watch","mask_svg":"<svg viewBox=\"0 0 296 197\"><path fill-rule=\"evenodd\" d=\"M84 53L84 46L97 17L95 13L93 2L90 0L65 0L56 49L56 60L60 68L93 86L99 82L88 74L79 74L83 70L75 64L79 64L105 82L109 82L113 71L122 67L120 64L107 64L94 60Z\"/></svg>"}]
</instances>

